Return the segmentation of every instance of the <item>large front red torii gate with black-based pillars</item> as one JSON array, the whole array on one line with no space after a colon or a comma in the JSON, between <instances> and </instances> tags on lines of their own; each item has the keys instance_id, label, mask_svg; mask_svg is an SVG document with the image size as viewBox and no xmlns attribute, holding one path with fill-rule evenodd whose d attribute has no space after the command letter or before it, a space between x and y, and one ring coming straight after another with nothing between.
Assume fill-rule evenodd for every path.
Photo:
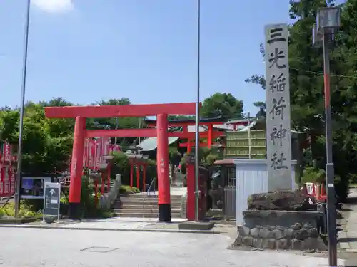
<instances>
[{"instance_id":1,"label":"large front red torii gate with black-based pillars","mask_svg":"<svg viewBox=\"0 0 357 267\"><path fill-rule=\"evenodd\" d=\"M193 115L196 103L170 103L153 105L103 105L46 107L49 118L76 118L71 157L71 183L69 188L69 217L79 219L81 202L81 175L83 169L84 140L86 137L157 137L157 169L159 191L159 221L171 221L169 182L169 136L189 138L194 132L167 130L168 115ZM156 129L86 130L86 117L145 117L156 116Z\"/></svg>"}]
</instances>

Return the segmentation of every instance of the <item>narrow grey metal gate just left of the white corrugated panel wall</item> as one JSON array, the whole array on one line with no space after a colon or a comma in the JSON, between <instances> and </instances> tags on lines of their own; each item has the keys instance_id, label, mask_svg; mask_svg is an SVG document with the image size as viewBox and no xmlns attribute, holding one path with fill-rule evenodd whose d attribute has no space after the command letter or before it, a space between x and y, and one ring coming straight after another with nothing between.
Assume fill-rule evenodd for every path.
<instances>
[{"instance_id":1,"label":"narrow grey metal gate just left of the white corrugated panel wall","mask_svg":"<svg viewBox=\"0 0 357 267\"><path fill-rule=\"evenodd\" d=\"M227 165L222 169L224 219L236 219L236 167Z\"/></svg>"}]
</instances>

